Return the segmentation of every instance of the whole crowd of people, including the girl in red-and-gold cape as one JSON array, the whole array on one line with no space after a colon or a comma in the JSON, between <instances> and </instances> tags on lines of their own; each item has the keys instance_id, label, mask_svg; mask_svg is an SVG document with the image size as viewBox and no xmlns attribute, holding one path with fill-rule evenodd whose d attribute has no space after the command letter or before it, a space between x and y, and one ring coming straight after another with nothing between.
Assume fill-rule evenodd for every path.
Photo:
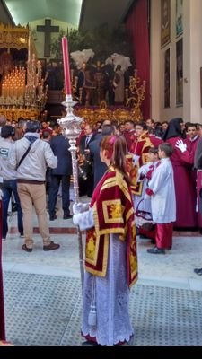
<instances>
[{"instance_id":1,"label":"whole crowd of people, including the girl in red-and-gold cape","mask_svg":"<svg viewBox=\"0 0 202 359\"><path fill-rule=\"evenodd\" d=\"M49 235L47 206L49 220L56 220L61 183L63 219L72 217L68 139L57 122L20 118L13 124L3 116L0 135L3 239L13 196L22 250L33 250L32 206L43 250L57 250L59 244ZM82 335L87 343L121 345L134 334L128 303L137 279L136 232L154 243L148 253L165 255L172 248L173 228L202 231L201 136L202 125L184 124L182 118L82 122L77 138L80 195L91 199L74 204L73 222L86 231ZM202 269L195 273L201 276ZM0 311L4 319L3 286Z\"/></svg>"}]
</instances>

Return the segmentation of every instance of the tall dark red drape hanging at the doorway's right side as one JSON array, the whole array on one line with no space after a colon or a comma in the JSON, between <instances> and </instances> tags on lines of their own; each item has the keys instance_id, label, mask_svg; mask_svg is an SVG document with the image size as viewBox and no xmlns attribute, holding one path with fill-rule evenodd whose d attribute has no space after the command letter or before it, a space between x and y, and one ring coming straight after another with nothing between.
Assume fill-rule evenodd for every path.
<instances>
[{"instance_id":1,"label":"tall dark red drape hanging at the doorway's right side","mask_svg":"<svg viewBox=\"0 0 202 359\"><path fill-rule=\"evenodd\" d=\"M148 29L148 0L136 0L126 20L127 31L132 38L133 56L136 69L142 80L146 81L145 101L142 105L144 118L150 118L150 56Z\"/></svg>"}]
</instances>

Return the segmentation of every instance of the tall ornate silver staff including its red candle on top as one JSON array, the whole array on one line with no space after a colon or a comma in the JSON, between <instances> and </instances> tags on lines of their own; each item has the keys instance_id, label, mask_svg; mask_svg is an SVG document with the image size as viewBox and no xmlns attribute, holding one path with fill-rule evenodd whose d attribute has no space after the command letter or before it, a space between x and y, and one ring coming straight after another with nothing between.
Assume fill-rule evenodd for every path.
<instances>
[{"instance_id":1,"label":"tall ornate silver staff including its red candle on top","mask_svg":"<svg viewBox=\"0 0 202 359\"><path fill-rule=\"evenodd\" d=\"M76 138L81 133L80 123L83 118L79 118L74 115L73 107L75 106L75 101L72 99L71 95L71 79L70 79L70 66L68 58L68 44L66 37L62 38L62 48L63 48L63 64L64 64L64 74L65 74L65 84L66 84L66 101L62 102L62 105L66 107L66 116L64 118L57 119L58 124L62 127L63 135L68 138L70 148L69 151L72 155L72 167L73 167L73 180L74 180L74 194L75 194L75 203L79 202L79 186L78 186L78 165L76 160ZM80 273L81 273L81 282L82 282L82 291L83 291L83 243L82 243L82 232L77 228L78 233L78 243L79 243L79 264L80 264Z\"/></svg>"}]
</instances>

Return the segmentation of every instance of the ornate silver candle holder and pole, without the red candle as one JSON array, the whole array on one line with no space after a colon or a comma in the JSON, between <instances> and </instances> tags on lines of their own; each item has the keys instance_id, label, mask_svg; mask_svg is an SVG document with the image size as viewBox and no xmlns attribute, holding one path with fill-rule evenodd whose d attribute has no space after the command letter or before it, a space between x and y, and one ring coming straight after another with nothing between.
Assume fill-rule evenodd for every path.
<instances>
[{"instance_id":1,"label":"ornate silver candle holder and pole, without the red candle","mask_svg":"<svg viewBox=\"0 0 202 359\"><path fill-rule=\"evenodd\" d=\"M83 121L83 118L75 116L73 113L73 107L76 102L73 101L72 95L66 95L66 101L62 102L62 105L66 107L66 116L64 118L57 119L58 124L62 127L63 136L68 138L70 148L69 151L72 155L72 168L73 168L73 181L74 181L74 195L75 203L79 202L79 186L78 186L78 163L76 160L76 138L81 133L80 124ZM78 243L79 243L79 263L80 263L80 273L81 273L81 282L83 290L83 242L82 242L82 232L78 228Z\"/></svg>"}]
</instances>

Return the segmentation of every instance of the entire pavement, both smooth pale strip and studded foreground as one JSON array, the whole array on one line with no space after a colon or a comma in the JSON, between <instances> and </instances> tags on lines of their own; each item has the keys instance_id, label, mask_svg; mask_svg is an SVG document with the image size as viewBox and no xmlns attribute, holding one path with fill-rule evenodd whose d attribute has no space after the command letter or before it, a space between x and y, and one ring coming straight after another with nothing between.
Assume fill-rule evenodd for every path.
<instances>
[{"instance_id":1,"label":"entire pavement, both smooth pale strip and studded foreground","mask_svg":"<svg viewBox=\"0 0 202 359\"><path fill-rule=\"evenodd\" d=\"M37 227L34 215L33 224ZM75 232L71 220L49 225L61 248L44 252L36 234L33 252L26 253L16 233L16 218L10 221L3 243L7 340L19 346L80 346L77 235L67 234ZM165 256L148 254L148 247L149 241L138 239L139 280L130 295L135 336L130 345L201 346L202 277L193 268L202 267L202 238L178 234Z\"/></svg>"}]
</instances>

